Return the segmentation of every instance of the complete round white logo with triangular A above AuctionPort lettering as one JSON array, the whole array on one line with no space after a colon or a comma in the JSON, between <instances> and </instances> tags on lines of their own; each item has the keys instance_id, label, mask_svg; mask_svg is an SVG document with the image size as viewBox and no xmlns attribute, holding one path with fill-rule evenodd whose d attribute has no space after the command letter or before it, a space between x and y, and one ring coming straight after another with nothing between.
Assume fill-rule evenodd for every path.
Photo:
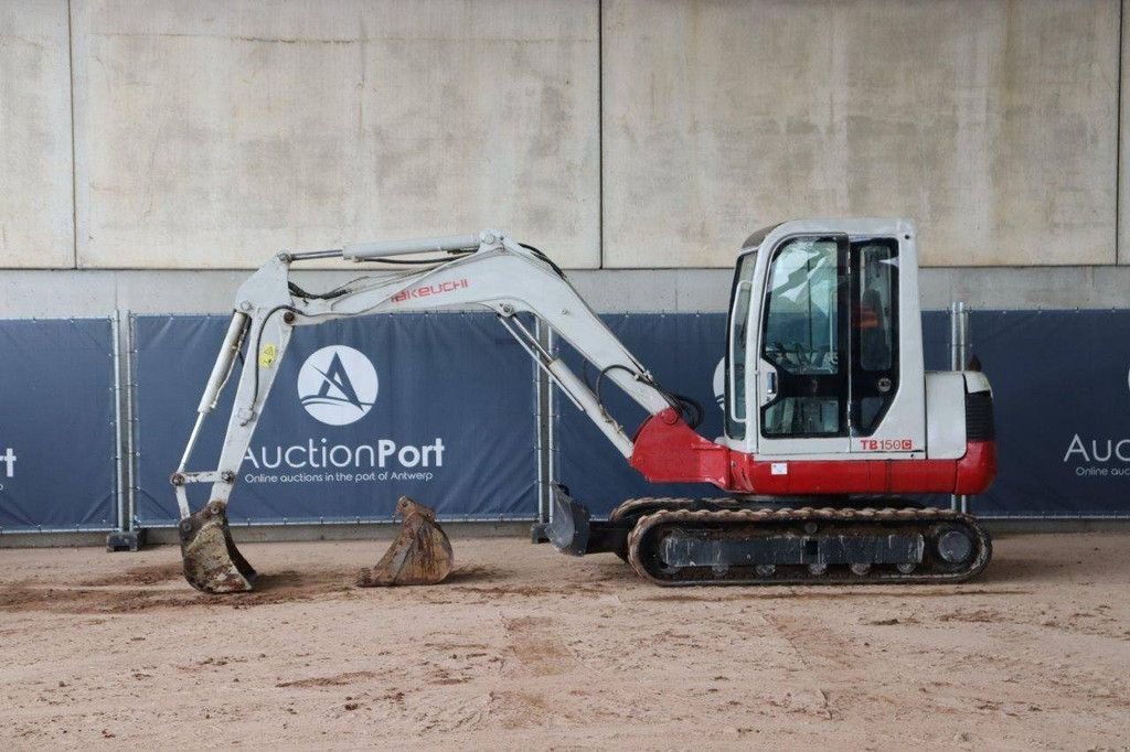
<instances>
[{"instance_id":1,"label":"complete round white logo with triangular A above AuctionPort lettering","mask_svg":"<svg viewBox=\"0 0 1130 752\"><path fill-rule=\"evenodd\" d=\"M314 352L298 371L302 406L327 426L348 426L364 418L376 402L376 392L373 362L344 344Z\"/></svg>"}]
</instances>

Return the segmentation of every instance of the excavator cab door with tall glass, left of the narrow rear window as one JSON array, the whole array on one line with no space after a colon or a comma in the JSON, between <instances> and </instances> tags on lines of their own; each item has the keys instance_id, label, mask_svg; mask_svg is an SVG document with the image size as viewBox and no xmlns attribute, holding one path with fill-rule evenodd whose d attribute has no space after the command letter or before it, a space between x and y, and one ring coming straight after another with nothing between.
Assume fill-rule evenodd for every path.
<instances>
[{"instance_id":1,"label":"excavator cab door with tall glass, left of the narrow rear window","mask_svg":"<svg viewBox=\"0 0 1130 752\"><path fill-rule=\"evenodd\" d=\"M849 254L846 235L808 235L768 259L756 352L762 456L849 452Z\"/></svg>"}]
</instances>

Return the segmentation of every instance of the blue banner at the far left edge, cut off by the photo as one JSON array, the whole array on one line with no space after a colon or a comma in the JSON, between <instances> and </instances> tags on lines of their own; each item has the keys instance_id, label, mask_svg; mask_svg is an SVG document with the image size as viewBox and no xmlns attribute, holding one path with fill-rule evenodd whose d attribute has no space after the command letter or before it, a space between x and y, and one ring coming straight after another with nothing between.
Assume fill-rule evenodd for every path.
<instances>
[{"instance_id":1,"label":"blue banner at the far left edge, cut off by the photo","mask_svg":"<svg viewBox=\"0 0 1130 752\"><path fill-rule=\"evenodd\" d=\"M110 321L0 321L0 528L118 525Z\"/></svg>"}]
</instances>

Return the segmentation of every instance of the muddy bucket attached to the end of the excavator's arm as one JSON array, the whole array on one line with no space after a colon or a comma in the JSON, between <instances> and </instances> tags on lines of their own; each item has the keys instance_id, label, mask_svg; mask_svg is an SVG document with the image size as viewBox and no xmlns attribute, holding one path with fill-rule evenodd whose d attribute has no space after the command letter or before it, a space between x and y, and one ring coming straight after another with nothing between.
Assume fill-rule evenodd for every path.
<instances>
[{"instance_id":1,"label":"muddy bucket attached to the end of the excavator's arm","mask_svg":"<svg viewBox=\"0 0 1130 752\"><path fill-rule=\"evenodd\" d=\"M235 548L227 526L227 505L209 501L179 526L184 579L205 593L242 593L253 589L255 570Z\"/></svg>"}]
</instances>

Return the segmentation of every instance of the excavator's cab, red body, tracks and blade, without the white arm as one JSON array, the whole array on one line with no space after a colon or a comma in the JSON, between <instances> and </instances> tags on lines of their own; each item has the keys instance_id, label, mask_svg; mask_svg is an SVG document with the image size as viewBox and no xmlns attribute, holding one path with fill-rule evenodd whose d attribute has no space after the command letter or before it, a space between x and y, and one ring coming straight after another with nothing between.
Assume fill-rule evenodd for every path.
<instances>
[{"instance_id":1,"label":"excavator's cab, red body, tracks and blade, without the white arm","mask_svg":"<svg viewBox=\"0 0 1130 752\"><path fill-rule=\"evenodd\" d=\"M957 582L991 556L968 515L924 493L977 493L996 473L992 396L977 373L925 373L916 233L890 219L800 220L738 256L724 436L673 411L636 432L657 482L730 496L631 499L607 522L558 492L566 553L614 551L660 585Z\"/></svg>"}]
</instances>

